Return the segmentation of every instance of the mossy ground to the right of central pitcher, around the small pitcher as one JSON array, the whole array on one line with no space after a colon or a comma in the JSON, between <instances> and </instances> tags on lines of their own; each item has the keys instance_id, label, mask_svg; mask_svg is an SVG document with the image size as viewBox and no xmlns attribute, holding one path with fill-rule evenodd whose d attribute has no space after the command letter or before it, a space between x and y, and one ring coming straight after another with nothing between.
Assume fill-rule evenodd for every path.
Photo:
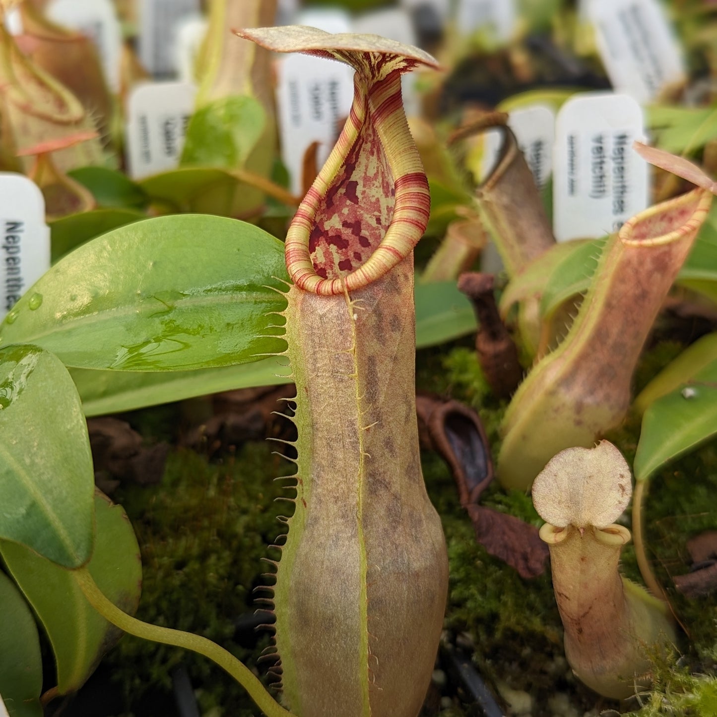
<instances>
[{"instance_id":1,"label":"mossy ground to the right of central pitcher, around the small pitcher","mask_svg":"<svg viewBox=\"0 0 717 717\"><path fill-rule=\"evenodd\" d=\"M648 351L635 374L639 390L672 361L682 347L663 342ZM500 446L499 427L505 403L490 394L472 348L455 346L448 353L432 356L426 385L475 407L484 421L493 455ZM441 370L442 369L442 370ZM419 385L421 384L419 371ZM434 388L434 390L436 390ZM606 437L614 442L632 464L639 440L639 417L629 416L619 429ZM467 631L476 643L475 660L489 678L527 690L538 705L556 691L573 693L588 709L596 698L566 675L556 672L563 656L562 627L549 576L522 581L512 569L488 556L476 544L472 526L457 504L448 470L434 455L424 456L426 481L441 513L449 546L451 587L446 625ZM690 640L680 649L680 665L655 666L655 690L642 696L645 705L639 717L652 715L717 714L713 706L716 683L710 672L717 663L717 604L713 597L688 600L673 586L672 576L688 570L685 543L690 536L717 530L717 445L684 457L652 480L645 503L646 540L656 562L657 575L667 586L670 602ZM483 503L540 525L530 498L515 491L506 493L492 485ZM713 508L713 506L715 506ZM629 513L622 518L629 526ZM622 571L641 582L632 545L622 556ZM546 665L548 668L546 669ZM632 706L634 708L634 705ZM624 707L623 707L624 708ZM662 710L662 711L660 711ZM540 714L540 708L536 714ZM637 713L634 713L637 714Z\"/></svg>"}]
</instances>

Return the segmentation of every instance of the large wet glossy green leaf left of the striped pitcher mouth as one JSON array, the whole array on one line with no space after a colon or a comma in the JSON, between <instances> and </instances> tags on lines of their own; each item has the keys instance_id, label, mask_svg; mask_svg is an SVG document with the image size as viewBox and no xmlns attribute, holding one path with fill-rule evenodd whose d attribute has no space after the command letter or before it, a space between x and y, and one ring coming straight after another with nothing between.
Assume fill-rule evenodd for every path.
<instances>
[{"instance_id":1,"label":"large wet glossy green leaf left of the striped pitcher mouth","mask_svg":"<svg viewBox=\"0 0 717 717\"><path fill-rule=\"evenodd\" d=\"M52 267L0 326L2 343L36 343L85 369L242 364L286 348L273 315L286 307L282 279L283 244L251 224L147 219Z\"/></svg>"}]
</instances>

